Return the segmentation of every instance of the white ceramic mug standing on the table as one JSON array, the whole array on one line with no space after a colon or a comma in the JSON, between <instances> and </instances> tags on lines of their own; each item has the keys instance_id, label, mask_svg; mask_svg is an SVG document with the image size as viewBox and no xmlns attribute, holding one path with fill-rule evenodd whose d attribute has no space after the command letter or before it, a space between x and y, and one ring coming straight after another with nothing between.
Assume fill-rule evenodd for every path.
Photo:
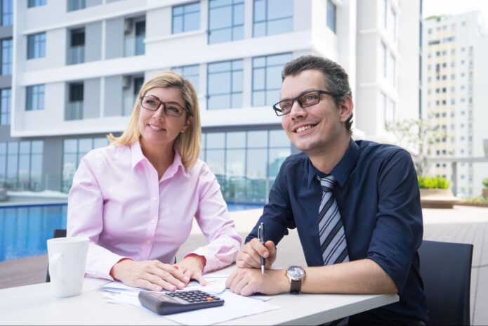
<instances>
[{"instance_id":1,"label":"white ceramic mug standing on the table","mask_svg":"<svg viewBox=\"0 0 488 326\"><path fill-rule=\"evenodd\" d=\"M53 296L81 294L88 242L88 237L48 239L49 276Z\"/></svg>"}]
</instances>

